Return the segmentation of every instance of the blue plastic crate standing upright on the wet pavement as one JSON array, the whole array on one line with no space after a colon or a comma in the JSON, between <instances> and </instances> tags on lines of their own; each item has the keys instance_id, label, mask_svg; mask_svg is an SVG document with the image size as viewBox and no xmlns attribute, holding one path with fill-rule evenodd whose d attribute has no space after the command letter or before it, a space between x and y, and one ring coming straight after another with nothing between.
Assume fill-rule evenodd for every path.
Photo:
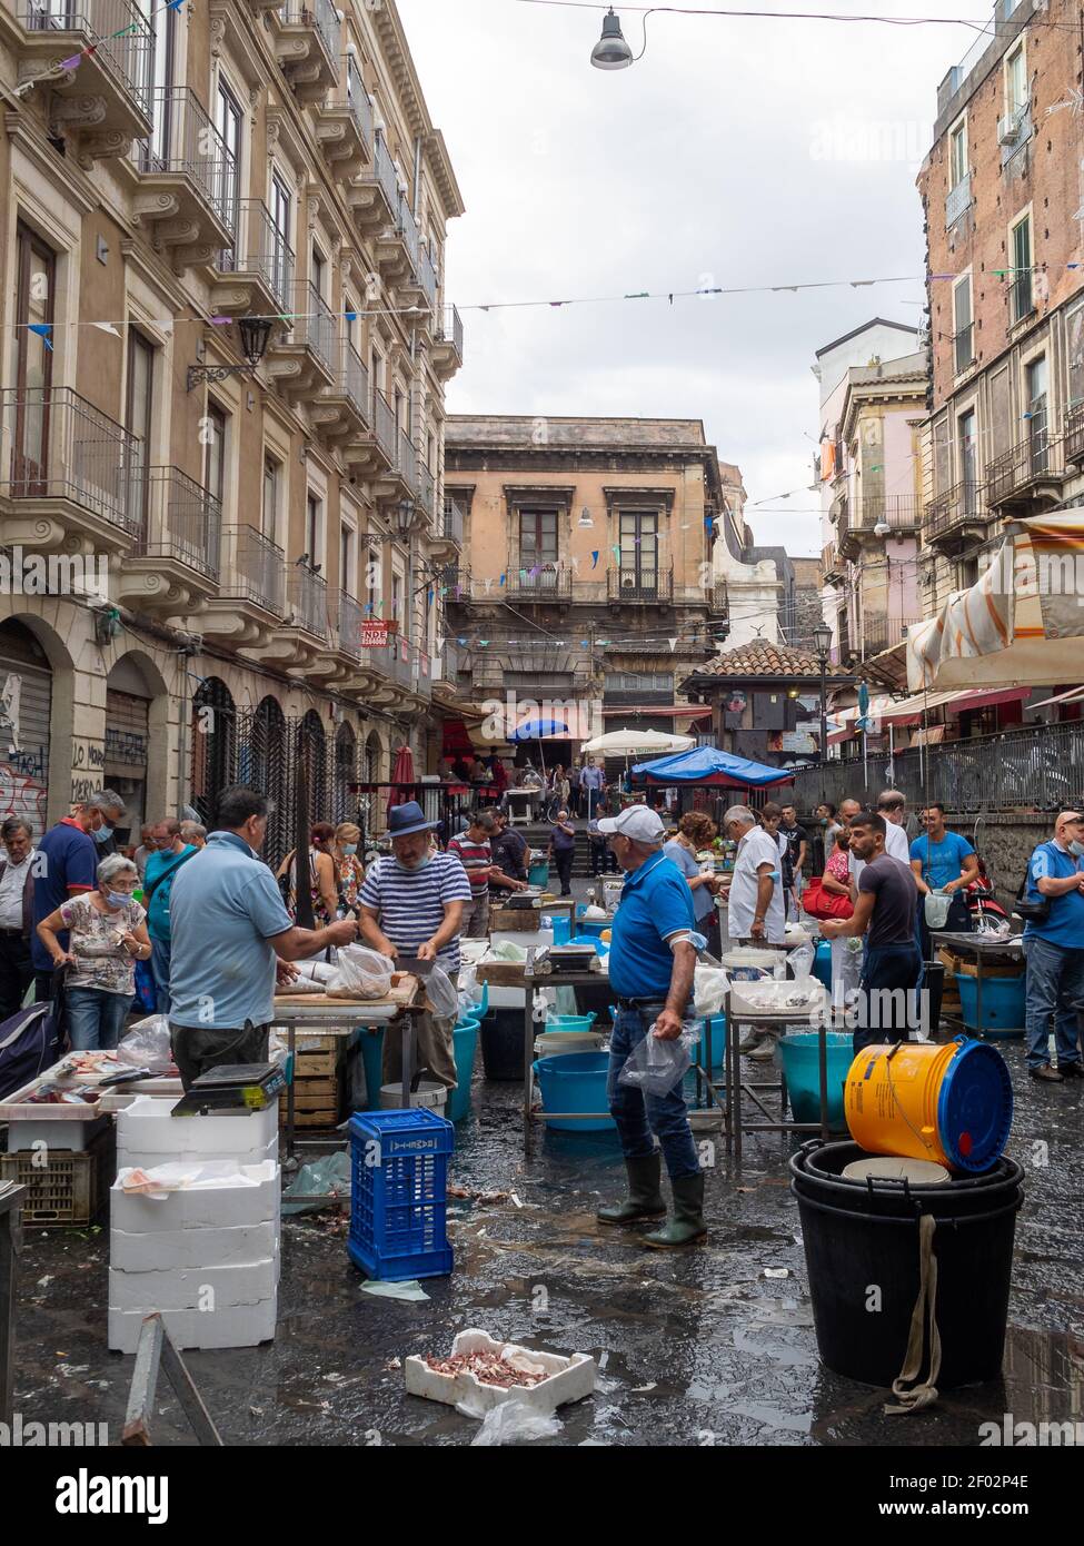
<instances>
[{"instance_id":1,"label":"blue plastic crate standing upright on the wet pavement","mask_svg":"<svg viewBox=\"0 0 1084 1546\"><path fill-rule=\"evenodd\" d=\"M424 1107L359 1112L349 1119L351 1203L346 1251L366 1277L445 1277L448 1155L455 1129ZM366 1163L368 1161L368 1163Z\"/></svg>"}]
</instances>

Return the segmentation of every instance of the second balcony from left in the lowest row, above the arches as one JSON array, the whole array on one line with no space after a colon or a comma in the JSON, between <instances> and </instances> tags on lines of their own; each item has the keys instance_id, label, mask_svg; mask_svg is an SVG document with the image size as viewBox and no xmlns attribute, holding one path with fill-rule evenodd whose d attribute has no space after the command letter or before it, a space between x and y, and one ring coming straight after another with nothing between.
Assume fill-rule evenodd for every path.
<instances>
[{"instance_id":1,"label":"second balcony from left in the lowest row, above the arches","mask_svg":"<svg viewBox=\"0 0 1084 1546\"><path fill-rule=\"evenodd\" d=\"M147 467L135 487L142 519L119 574L121 600L187 617L218 589L223 507L179 467Z\"/></svg>"}]
</instances>

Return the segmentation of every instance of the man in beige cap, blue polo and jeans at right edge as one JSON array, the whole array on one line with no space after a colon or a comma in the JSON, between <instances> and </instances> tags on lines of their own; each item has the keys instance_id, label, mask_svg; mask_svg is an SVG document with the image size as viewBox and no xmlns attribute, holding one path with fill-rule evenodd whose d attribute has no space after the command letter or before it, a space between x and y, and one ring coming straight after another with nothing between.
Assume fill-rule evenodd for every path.
<instances>
[{"instance_id":1,"label":"man in beige cap, blue polo and jeans at right edge","mask_svg":"<svg viewBox=\"0 0 1084 1546\"><path fill-rule=\"evenodd\" d=\"M1076 1005L1084 1003L1084 816L1062 810L1050 843L1028 861L1025 895L1047 901L1045 918L1024 925L1027 957L1027 1065L1033 1079L1061 1084L1084 1078ZM1058 1067L1050 1067L1050 1016Z\"/></svg>"}]
</instances>

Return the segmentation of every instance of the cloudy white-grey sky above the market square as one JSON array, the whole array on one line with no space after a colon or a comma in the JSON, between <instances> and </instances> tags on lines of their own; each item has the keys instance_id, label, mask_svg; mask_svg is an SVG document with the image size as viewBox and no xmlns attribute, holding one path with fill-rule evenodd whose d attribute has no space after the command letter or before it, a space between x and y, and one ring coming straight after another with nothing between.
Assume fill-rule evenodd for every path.
<instances>
[{"instance_id":1,"label":"cloudy white-grey sky above the market square","mask_svg":"<svg viewBox=\"0 0 1084 1546\"><path fill-rule=\"evenodd\" d=\"M988 15L985 0L840 9ZM452 411L701 417L742 470L756 540L818 553L804 492L813 351L874 315L919 322L914 181L937 83L976 28L656 14L645 57L603 73L589 65L603 6L399 0L399 11L467 204L447 249L465 329ZM637 53L642 15L617 11ZM912 278L465 309L892 275Z\"/></svg>"}]
</instances>

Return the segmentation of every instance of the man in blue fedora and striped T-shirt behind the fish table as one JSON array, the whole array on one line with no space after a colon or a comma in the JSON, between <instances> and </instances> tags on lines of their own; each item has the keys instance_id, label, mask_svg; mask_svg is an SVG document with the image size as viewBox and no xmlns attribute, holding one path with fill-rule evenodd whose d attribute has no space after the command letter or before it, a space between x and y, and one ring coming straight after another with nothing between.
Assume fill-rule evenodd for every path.
<instances>
[{"instance_id":1,"label":"man in blue fedora and striped T-shirt behind the fish table","mask_svg":"<svg viewBox=\"0 0 1084 1546\"><path fill-rule=\"evenodd\" d=\"M374 951L416 955L436 962L455 983L459 971L462 911L470 904L467 872L453 853L435 853L427 821L416 799L388 812L391 853L370 869L359 898L362 938ZM418 1064L455 1090L456 1061L452 1028L455 1014L436 1019L418 1016ZM397 1036L383 1039L383 1082L402 1078L402 1047Z\"/></svg>"}]
</instances>

